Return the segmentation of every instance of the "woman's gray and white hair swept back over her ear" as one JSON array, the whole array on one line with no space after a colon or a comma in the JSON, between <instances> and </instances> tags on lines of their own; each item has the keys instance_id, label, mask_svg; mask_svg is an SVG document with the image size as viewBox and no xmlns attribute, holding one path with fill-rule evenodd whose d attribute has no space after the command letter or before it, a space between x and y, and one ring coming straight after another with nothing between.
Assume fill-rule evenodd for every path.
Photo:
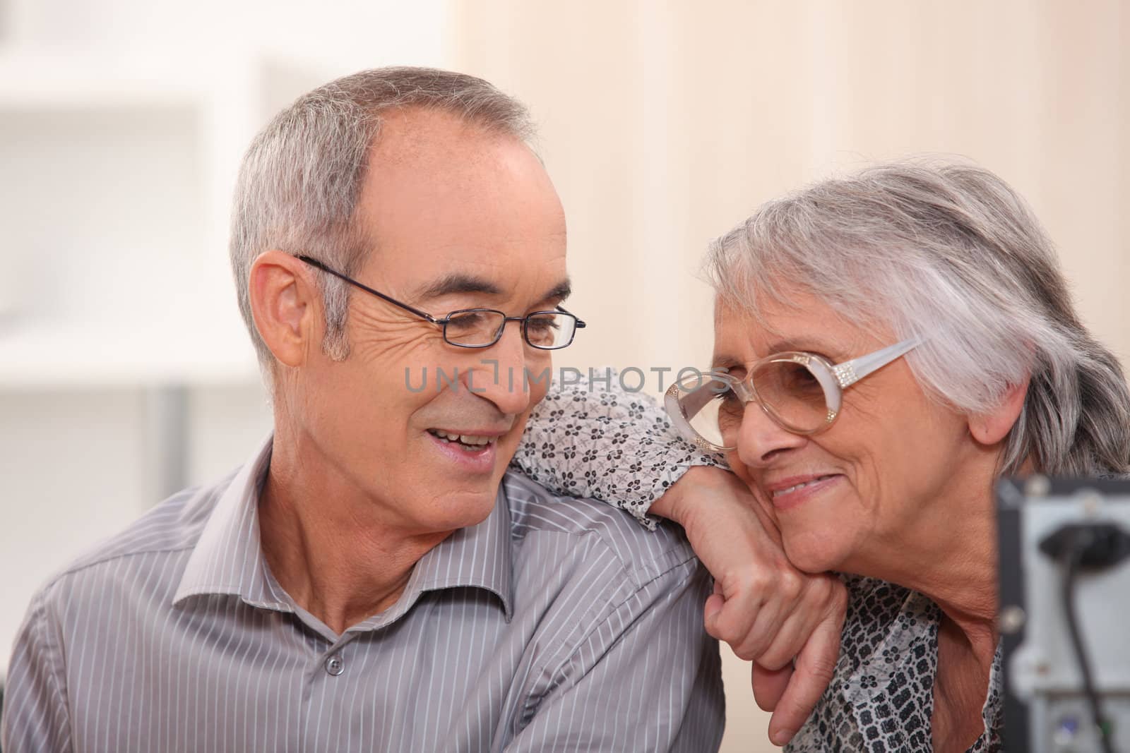
<instances>
[{"instance_id":1,"label":"woman's gray and white hair swept back over her ear","mask_svg":"<svg viewBox=\"0 0 1130 753\"><path fill-rule=\"evenodd\" d=\"M1001 473L1130 471L1130 391L1079 321L1051 242L1019 195L958 164L879 165L762 205L715 240L721 300L810 291L847 321L923 336L906 360L928 394L967 414L1031 378Z\"/></svg>"}]
</instances>

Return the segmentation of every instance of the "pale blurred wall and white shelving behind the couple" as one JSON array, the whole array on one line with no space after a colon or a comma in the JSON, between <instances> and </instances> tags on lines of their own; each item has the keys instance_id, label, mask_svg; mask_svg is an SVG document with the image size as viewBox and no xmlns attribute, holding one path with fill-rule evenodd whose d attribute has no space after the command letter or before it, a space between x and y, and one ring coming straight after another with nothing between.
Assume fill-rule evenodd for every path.
<instances>
[{"instance_id":1,"label":"pale blurred wall and white shelving behind the couple","mask_svg":"<svg viewBox=\"0 0 1130 753\"><path fill-rule=\"evenodd\" d=\"M227 204L298 94L407 63L530 105L590 323L560 365L704 362L709 238L937 151L1027 196L1130 364L1128 42L1118 0L0 0L0 673L50 572L268 430ZM725 673L724 750L771 750Z\"/></svg>"}]
</instances>

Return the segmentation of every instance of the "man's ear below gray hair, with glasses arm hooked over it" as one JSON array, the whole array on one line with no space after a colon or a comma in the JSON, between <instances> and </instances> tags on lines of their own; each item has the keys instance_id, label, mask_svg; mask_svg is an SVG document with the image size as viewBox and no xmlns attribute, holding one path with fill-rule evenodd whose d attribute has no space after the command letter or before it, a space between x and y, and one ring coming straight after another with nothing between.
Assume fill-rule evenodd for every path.
<instances>
[{"instance_id":1,"label":"man's ear below gray hair, with glasses arm hooked over it","mask_svg":"<svg viewBox=\"0 0 1130 753\"><path fill-rule=\"evenodd\" d=\"M318 336L312 270L290 254L267 251L252 262L247 287L259 336L280 364L302 366Z\"/></svg>"}]
</instances>

